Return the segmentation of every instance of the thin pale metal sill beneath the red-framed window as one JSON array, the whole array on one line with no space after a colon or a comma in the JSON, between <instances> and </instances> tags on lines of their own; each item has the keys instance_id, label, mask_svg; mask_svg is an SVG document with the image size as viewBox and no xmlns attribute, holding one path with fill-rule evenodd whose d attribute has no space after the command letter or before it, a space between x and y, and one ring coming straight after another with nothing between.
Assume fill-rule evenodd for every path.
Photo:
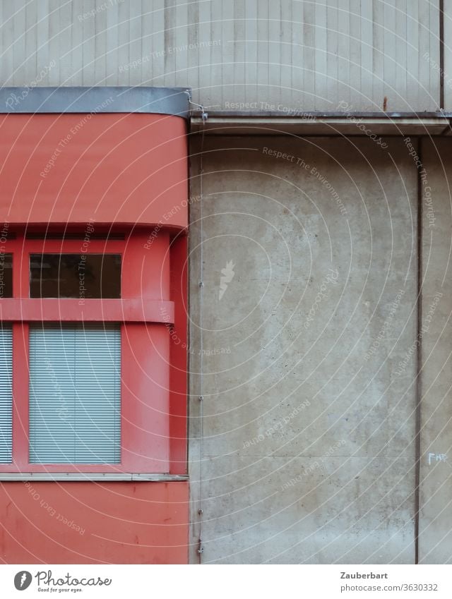
<instances>
[{"instance_id":1,"label":"thin pale metal sill beneath the red-framed window","mask_svg":"<svg viewBox=\"0 0 452 599\"><path fill-rule=\"evenodd\" d=\"M189 480L188 474L133 474L133 473L119 473L119 474L111 474L111 473L64 473L64 472L11 472L0 473L0 482L12 482L14 480L54 480L62 482L64 480L69 481L80 481L85 480L86 482L90 481L103 481L103 482L112 482L112 481L146 481L148 483L175 483Z\"/></svg>"}]
</instances>

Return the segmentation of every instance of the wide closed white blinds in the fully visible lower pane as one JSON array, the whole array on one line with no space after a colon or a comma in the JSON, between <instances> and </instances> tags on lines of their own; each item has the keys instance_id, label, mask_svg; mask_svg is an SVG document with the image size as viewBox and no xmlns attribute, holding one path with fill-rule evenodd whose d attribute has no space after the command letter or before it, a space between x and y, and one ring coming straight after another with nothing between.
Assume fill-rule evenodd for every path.
<instances>
[{"instance_id":1,"label":"wide closed white blinds in the fully visible lower pane","mask_svg":"<svg viewBox=\"0 0 452 599\"><path fill-rule=\"evenodd\" d=\"M121 461L118 325L30 327L30 463Z\"/></svg>"}]
</instances>

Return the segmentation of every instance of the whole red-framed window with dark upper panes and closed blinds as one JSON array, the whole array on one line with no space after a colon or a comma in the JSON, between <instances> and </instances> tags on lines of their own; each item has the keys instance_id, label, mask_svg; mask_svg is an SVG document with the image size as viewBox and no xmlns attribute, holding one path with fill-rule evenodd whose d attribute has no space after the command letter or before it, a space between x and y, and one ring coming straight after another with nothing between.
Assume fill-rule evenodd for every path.
<instances>
[{"instance_id":1,"label":"whole red-framed window with dark upper panes and closed blinds","mask_svg":"<svg viewBox=\"0 0 452 599\"><path fill-rule=\"evenodd\" d=\"M171 370L185 352L184 332L170 337L181 275L169 234L149 236L18 232L2 246L0 479L168 473L171 434L182 455L184 391L169 390L185 389Z\"/></svg>"}]
</instances>

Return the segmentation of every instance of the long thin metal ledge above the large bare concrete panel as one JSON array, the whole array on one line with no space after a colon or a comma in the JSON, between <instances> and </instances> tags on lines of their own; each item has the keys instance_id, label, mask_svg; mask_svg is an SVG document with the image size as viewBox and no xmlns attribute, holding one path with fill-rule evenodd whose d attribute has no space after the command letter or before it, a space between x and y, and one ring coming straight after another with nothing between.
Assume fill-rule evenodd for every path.
<instances>
[{"instance_id":1,"label":"long thin metal ledge above the large bare concrete panel","mask_svg":"<svg viewBox=\"0 0 452 599\"><path fill-rule=\"evenodd\" d=\"M449 135L452 113L249 113L210 111L191 116L191 133L210 135Z\"/></svg>"}]
</instances>

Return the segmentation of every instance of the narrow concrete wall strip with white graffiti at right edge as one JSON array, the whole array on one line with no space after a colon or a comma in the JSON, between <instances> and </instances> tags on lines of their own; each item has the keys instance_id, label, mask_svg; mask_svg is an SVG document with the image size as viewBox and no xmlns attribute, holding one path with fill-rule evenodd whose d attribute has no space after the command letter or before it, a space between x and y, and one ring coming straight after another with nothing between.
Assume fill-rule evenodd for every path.
<instances>
[{"instance_id":1,"label":"narrow concrete wall strip with white graffiti at right edge","mask_svg":"<svg viewBox=\"0 0 452 599\"><path fill-rule=\"evenodd\" d=\"M450 140L425 141L422 227L420 562L452 562Z\"/></svg>"}]
</instances>

